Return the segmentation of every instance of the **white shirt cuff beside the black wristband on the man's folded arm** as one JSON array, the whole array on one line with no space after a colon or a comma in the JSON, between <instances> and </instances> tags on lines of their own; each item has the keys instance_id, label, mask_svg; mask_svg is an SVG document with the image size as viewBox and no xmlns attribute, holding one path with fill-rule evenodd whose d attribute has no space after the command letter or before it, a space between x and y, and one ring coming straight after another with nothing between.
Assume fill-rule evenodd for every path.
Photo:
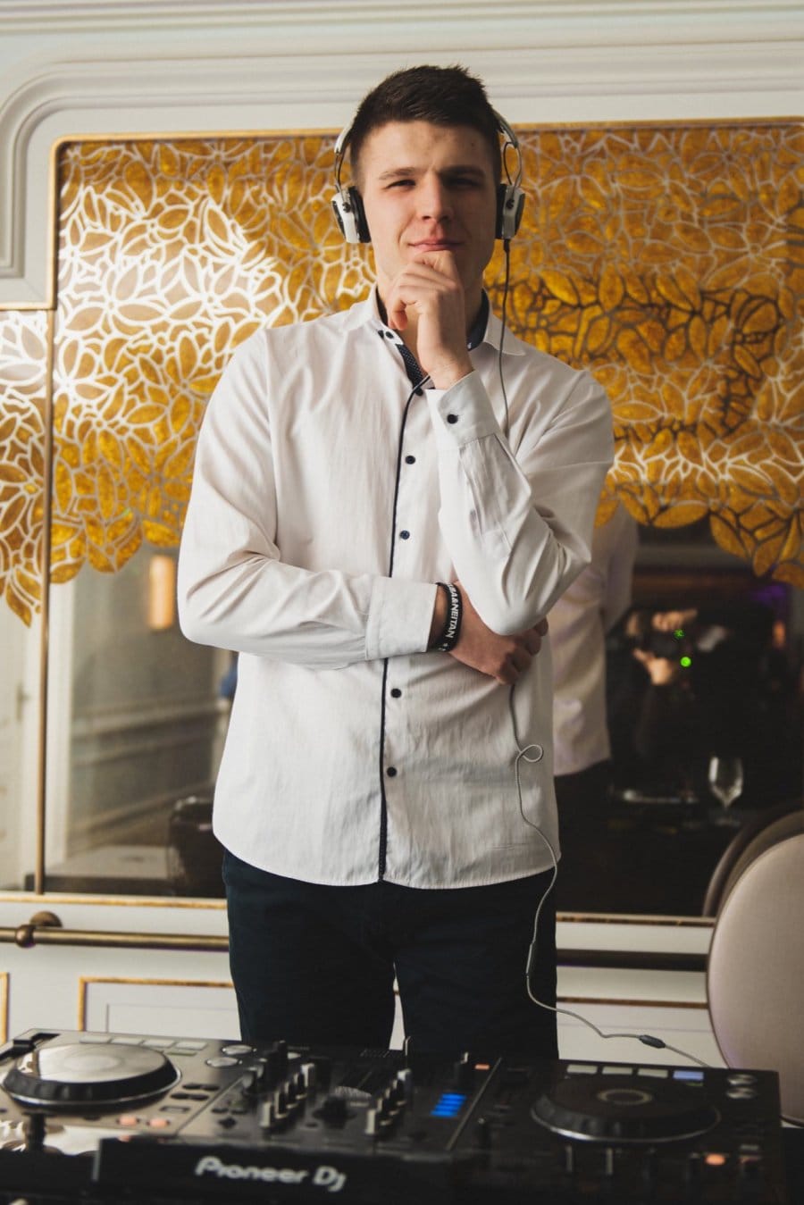
<instances>
[{"instance_id":1,"label":"white shirt cuff beside the black wristband on the man's folded arm","mask_svg":"<svg viewBox=\"0 0 804 1205\"><path fill-rule=\"evenodd\" d=\"M365 629L366 660L426 653L436 590L435 582L375 578Z\"/></svg>"}]
</instances>

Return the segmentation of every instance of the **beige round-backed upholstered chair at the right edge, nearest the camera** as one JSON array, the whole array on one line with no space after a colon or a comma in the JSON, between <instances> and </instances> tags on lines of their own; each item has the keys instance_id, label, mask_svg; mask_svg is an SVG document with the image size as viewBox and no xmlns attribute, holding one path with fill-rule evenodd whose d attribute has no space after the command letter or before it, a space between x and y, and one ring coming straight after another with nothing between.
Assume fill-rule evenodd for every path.
<instances>
[{"instance_id":1,"label":"beige round-backed upholstered chair at the right edge, nearest the camera","mask_svg":"<svg viewBox=\"0 0 804 1205\"><path fill-rule=\"evenodd\" d=\"M726 1063L777 1071L782 1116L804 1125L804 833L764 850L733 882L706 989Z\"/></svg>"}]
</instances>

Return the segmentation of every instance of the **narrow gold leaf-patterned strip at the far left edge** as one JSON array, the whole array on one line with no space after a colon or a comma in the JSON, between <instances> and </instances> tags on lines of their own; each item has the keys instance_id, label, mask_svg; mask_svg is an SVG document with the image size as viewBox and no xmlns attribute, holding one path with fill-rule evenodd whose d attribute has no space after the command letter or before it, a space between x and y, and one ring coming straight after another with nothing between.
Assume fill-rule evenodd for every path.
<instances>
[{"instance_id":1,"label":"narrow gold leaf-patterned strip at the far left edge","mask_svg":"<svg viewBox=\"0 0 804 1205\"><path fill-rule=\"evenodd\" d=\"M0 590L27 624L42 596L47 322L0 316Z\"/></svg>"}]
</instances>

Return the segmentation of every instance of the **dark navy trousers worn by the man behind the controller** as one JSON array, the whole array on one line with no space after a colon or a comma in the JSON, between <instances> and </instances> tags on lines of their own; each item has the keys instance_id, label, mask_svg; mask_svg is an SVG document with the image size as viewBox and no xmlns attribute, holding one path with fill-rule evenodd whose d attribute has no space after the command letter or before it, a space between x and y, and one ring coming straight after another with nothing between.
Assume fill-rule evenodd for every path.
<instances>
[{"instance_id":1,"label":"dark navy trousers worn by the man behind the controller","mask_svg":"<svg viewBox=\"0 0 804 1205\"><path fill-rule=\"evenodd\" d=\"M413 1052L558 1057L556 1013L528 997L534 918L552 871L489 887L328 887L225 852L229 958L243 1041L385 1048L394 977ZM556 1004L556 909L530 970Z\"/></svg>"}]
</instances>

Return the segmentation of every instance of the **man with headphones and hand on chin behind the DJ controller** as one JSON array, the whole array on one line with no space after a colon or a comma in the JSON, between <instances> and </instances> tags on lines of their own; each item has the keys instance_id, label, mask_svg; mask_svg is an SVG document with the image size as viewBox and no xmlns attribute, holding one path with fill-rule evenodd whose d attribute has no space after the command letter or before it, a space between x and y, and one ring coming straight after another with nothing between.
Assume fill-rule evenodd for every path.
<instances>
[{"instance_id":1,"label":"man with headphones and hand on chin behind the DJ controller","mask_svg":"<svg viewBox=\"0 0 804 1205\"><path fill-rule=\"evenodd\" d=\"M589 557L609 407L500 357L480 82L397 72L348 141L376 288L237 349L182 541L183 630L240 653L215 829L242 1034L386 1046L395 977L413 1050L554 1056L526 982L558 848L534 658ZM547 1005L554 975L547 899Z\"/></svg>"}]
</instances>

